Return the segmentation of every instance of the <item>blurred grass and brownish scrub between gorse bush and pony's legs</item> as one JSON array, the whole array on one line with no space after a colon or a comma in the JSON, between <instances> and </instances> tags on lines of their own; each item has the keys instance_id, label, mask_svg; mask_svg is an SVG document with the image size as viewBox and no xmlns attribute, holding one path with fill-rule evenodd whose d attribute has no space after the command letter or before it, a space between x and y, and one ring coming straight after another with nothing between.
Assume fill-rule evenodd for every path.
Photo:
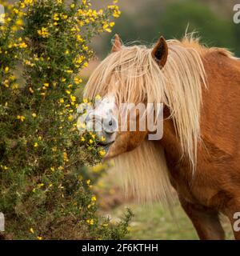
<instances>
[{"instance_id":1,"label":"blurred grass and brownish scrub between gorse bush and pony's legs","mask_svg":"<svg viewBox=\"0 0 240 256\"><path fill-rule=\"evenodd\" d=\"M170 211L160 203L142 205L133 200L124 199L121 190L117 189L114 192L113 187L117 184L113 174L106 175L101 181L102 191L99 191L101 197L99 199L103 206L103 213L109 216L113 222L118 221L126 207L133 211L134 218L130 223L130 233L126 239L198 239L194 226L182 210L177 196L173 206L173 217ZM230 222L224 216L221 217L221 221L226 231L226 239L233 239Z\"/></svg>"}]
</instances>

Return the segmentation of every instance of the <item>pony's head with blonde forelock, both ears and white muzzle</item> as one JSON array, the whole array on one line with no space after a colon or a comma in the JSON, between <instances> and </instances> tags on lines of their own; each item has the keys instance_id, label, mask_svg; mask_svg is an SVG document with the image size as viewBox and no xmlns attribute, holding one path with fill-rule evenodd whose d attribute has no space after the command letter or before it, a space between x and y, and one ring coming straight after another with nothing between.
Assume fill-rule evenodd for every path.
<instances>
[{"instance_id":1,"label":"pony's head with blonde forelock, both ears and white muzzle","mask_svg":"<svg viewBox=\"0 0 240 256\"><path fill-rule=\"evenodd\" d=\"M94 98L99 94L102 102L94 110L94 116L90 115L86 121L102 119L102 130L97 133L106 138L102 142L109 148L106 158L134 150L147 134L154 132L148 129L146 119L142 119L146 114L146 109L143 109L148 103L156 106L160 103L157 95L164 95L157 84L165 78L155 74L165 66L167 55L168 46L164 38L160 38L153 49L148 49L145 46L122 46L116 34L110 55L90 76L85 97ZM151 110L155 111L154 107ZM130 125L132 118L134 127Z\"/></svg>"}]
</instances>

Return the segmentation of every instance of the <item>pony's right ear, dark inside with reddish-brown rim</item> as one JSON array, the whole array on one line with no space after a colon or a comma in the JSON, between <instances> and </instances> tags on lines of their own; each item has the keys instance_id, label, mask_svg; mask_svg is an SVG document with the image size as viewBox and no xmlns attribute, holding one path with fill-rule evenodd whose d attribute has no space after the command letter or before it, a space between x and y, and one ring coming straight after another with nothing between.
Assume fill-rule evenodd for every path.
<instances>
[{"instance_id":1,"label":"pony's right ear, dark inside with reddish-brown rim","mask_svg":"<svg viewBox=\"0 0 240 256\"><path fill-rule=\"evenodd\" d=\"M152 51L152 56L158 62L158 65L162 68L166 64L168 55L168 46L166 40L161 37L158 39L156 46L154 46L154 50Z\"/></svg>"}]
</instances>

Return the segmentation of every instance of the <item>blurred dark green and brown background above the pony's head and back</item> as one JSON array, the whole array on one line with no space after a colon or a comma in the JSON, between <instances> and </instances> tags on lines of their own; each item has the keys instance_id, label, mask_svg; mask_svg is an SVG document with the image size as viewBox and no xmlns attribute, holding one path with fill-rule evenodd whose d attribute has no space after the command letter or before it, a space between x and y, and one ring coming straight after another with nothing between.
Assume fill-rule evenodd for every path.
<instances>
[{"instance_id":1,"label":"blurred dark green and brown background above the pony's head and back","mask_svg":"<svg viewBox=\"0 0 240 256\"><path fill-rule=\"evenodd\" d=\"M94 0L94 6L110 1ZM103 58L110 50L110 39L118 33L122 42L138 41L152 44L160 35L166 39L182 38L188 31L196 31L207 46L221 46L240 55L240 26L234 24L236 0L119 0L122 11L113 33L94 41L94 50Z\"/></svg>"}]
</instances>

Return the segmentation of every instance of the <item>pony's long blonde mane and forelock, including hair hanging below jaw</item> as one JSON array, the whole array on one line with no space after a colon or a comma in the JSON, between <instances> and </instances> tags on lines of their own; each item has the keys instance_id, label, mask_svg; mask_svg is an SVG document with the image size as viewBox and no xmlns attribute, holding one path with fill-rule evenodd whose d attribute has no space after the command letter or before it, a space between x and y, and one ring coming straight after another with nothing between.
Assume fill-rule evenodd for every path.
<instances>
[{"instance_id":1,"label":"pony's long blonde mane and forelock, including hair hanging below jaw","mask_svg":"<svg viewBox=\"0 0 240 256\"><path fill-rule=\"evenodd\" d=\"M167 45L169 54L161 70L151 48L122 46L122 50L110 54L94 70L85 97L114 93L118 102L164 103L170 110L182 155L189 158L194 171L200 138L202 85L206 86L201 58L205 48L192 38L184 38L182 42L169 40ZM142 142L139 148L120 155L116 164L122 169L119 172L126 170L126 184L130 184L138 198L166 198L170 182L164 153L155 150L153 142Z\"/></svg>"}]
</instances>

